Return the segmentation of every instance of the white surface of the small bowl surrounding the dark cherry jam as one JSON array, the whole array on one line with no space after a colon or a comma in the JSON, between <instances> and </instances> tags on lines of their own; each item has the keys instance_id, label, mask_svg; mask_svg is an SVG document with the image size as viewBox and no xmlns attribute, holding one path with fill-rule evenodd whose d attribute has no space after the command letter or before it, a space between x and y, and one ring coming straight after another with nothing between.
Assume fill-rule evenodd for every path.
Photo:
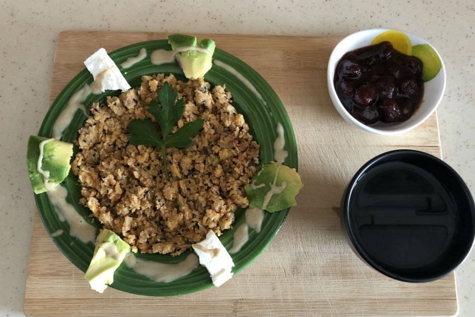
<instances>
[{"instance_id":1,"label":"white surface of the small bowl surrounding the dark cherry jam","mask_svg":"<svg viewBox=\"0 0 475 317\"><path fill-rule=\"evenodd\" d=\"M357 119L355 119L343 106L340 102L340 99L337 96L337 92L334 86L334 76L335 69L338 62L342 56L349 52L362 48L371 44L371 41L379 34L383 33L390 29L369 29L364 31L359 31L348 35L342 39L333 52L331 52L330 59L328 61L328 70L327 70L327 81L328 81L328 92L330 94L331 102L333 102L335 108L341 114L345 120L348 122L362 128L363 130L378 133L378 134L398 134L408 130L411 130L425 121L437 108L442 97L444 96L445 84L446 84L446 72L444 62L437 52L437 50L429 43L428 41L417 37L415 35L404 32L409 39L411 40L412 45L417 44L429 44L439 55L439 58L442 62L442 68L437 74L437 76L427 82L424 82L424 95L422 97L422 102L419 108L414 112L414 114L404 122L390 123L385 124L384 126L368 126Z\"/></svg>"}]
</instances>

